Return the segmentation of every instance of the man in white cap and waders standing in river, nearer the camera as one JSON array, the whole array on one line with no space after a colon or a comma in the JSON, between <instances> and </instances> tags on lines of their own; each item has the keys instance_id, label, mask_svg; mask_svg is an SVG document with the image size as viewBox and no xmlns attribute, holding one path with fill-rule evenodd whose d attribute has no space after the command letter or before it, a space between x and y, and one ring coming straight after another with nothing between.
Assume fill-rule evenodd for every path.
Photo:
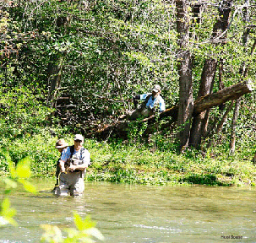
<instances>
[{"instance_id":1,"label":"man in white cap and waders standing in river, nearer the camera","mask_svg":"<svg viewBox=\"0 0 256 243\"><path fill-rule=\"evenodd\" d=\"M61 173L55 192L57 196L67 196L70 192L70 196L74 197L84 192L84 175L90 165L90 153L83 143L83 136L76 134L74 145L63 150L59 161Z\"/></svg>"}]
</instances>

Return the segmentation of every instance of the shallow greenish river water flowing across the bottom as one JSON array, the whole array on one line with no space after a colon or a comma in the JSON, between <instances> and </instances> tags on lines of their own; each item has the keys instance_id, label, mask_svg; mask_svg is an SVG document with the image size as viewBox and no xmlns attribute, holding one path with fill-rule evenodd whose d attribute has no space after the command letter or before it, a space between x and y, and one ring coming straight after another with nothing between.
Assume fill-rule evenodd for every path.
<instances>
[{"instance_id":1,"label":"shallow greenish river water flowing across the bottom","mask_svg":"<svg viewBox=\"0 0 256 243\"><path fill-rule=\"evenodd\" d=\"M41 224L74 227L73 211L90 214L109 243L256 242L256 188L85 182L83 197L57 198L54 182L10 195L19 226L0 228L0 242L40 242Z\"/></svg>"}]
</instances>

